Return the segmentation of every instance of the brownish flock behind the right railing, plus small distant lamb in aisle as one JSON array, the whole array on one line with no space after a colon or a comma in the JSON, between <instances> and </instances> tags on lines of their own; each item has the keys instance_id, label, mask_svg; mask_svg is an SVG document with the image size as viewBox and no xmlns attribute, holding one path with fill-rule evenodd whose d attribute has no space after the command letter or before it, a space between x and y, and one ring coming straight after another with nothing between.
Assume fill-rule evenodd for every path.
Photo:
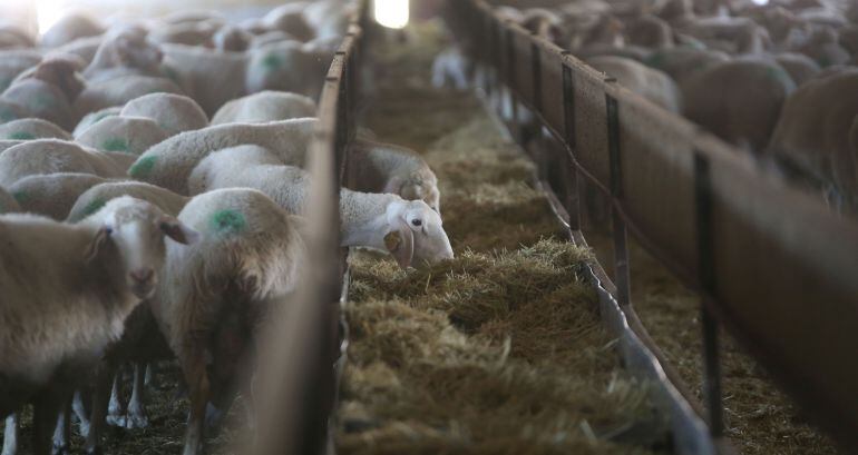
<instances>
[{"instance_id":1,"label":"brownish flock behind the right railing, plus small distant lamb in aisle","mask_svg":"<svg viewBox=\"0 0 858 455\"><path fill-rule=\"evenodd\" d=\"M858 211L858 2L500 3L504 18ZM437 85L466 80L457 52L436 61Z\"/></svg>"}]
</instances>

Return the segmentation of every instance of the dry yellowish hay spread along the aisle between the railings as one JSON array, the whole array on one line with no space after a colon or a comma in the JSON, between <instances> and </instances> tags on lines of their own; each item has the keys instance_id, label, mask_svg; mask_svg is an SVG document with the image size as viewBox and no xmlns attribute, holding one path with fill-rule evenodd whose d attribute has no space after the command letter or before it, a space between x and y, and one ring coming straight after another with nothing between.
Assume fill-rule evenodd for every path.
<instances>
[{"instance_id":1,"label":"dry yellowish hay spread along the aisle between the railings","mask_svg":"<svg viewBox=\"0 0 858 455\"><path fill-rule=\"evenodd\" d=\"M657 429L608 441L659 422L595 313L582 278L589 253L562 241L528 185L533 166L478 100L415 83L426 67L396 63L367 126L425 154L457 257L403 271L379 254L351 256L338 451L650 453Z\"/></svg>"}]
</instances>

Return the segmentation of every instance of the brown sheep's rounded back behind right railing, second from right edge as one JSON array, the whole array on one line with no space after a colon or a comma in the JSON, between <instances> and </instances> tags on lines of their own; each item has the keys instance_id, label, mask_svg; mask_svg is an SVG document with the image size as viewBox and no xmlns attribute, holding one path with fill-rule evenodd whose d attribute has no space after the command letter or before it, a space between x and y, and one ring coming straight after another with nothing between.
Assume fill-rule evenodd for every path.
<instances>
[{"instance_id":1,"label":"brown sheep's rounded back behind right railing, second from right edge","mask_svg":"<svg viewBox=\"0 0 858 455\"><path fill-rule=\"evenodd\" d=\"M738 59L700 71L682 86L684 115L722 139L761 151L781 106L796 89L767 59Z\"/></svg>"}]
</instances>

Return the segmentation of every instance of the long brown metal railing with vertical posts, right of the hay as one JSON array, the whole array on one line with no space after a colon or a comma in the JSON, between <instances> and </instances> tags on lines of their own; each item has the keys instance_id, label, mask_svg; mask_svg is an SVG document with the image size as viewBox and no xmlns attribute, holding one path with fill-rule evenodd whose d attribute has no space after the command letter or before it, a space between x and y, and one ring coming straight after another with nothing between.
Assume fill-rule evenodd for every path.
<instances>
[{"instance_id":1,"label":"long brown metal railing with vertical posts, right of the hay","mask_svg":"<svg viewBox=\"0 0 858 455\"><path fill-rule=\"evenodd\" d=\"M702 298L710 428L723 431L723 324L844 446L858 443L858 224L783 184L688 120L620 87L569 52L495 14L450 2L457 34L565 147L552 187L581 229L578 179L610 201L615 296L631 308L631 233ZM631 311L633 313L633 311Z\"/></svg>"}]
</instances>

